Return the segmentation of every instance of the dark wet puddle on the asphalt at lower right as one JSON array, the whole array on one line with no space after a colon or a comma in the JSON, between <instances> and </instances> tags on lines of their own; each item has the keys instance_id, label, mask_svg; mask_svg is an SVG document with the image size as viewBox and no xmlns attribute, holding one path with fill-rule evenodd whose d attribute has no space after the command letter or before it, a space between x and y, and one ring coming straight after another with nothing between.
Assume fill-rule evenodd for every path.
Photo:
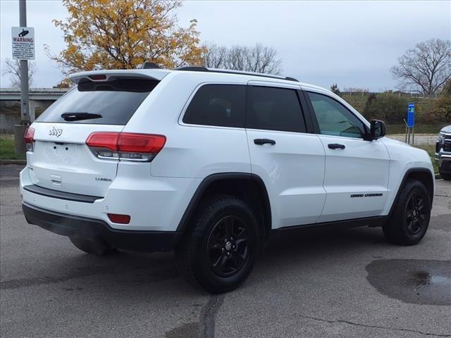
<instances>
[{"instance_id":1,"label":"dark wet puddle on the asphalt at lower right","mask_svg":"<svg viewBox=\"0 0 451 338\"><path fill-rule=\"evenodd\" d=\"M366 265L378 292L405 303L451 305L451 261L378 259Z\"/></svg>"}]
</instances>

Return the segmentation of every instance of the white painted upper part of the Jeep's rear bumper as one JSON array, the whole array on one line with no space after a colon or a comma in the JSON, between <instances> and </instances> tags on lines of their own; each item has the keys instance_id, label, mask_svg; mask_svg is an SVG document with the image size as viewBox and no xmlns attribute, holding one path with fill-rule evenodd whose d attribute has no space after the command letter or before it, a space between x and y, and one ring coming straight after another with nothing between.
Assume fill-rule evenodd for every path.
<instances>
[{"instance_id":1,"label":"white painted upper part of the Jeep's rear bumper","mask_svg":"<svg viewBox=\"0 0 451 338\"><path fill-rule=\"evenodd\" d=\"M106 194L97 197L65 192L64 186L49 189L50 187L45 185L36 185L32 182L34 171L27 165L20 172L20 194L23 203L33 208L101 220L113 230L177 231L183 212L190 203L200 179L153 177L149 175L149 168L140 166L128 170L125 173L123 169ZM130 223L111 222L108 213L130 215Z\"/></svg>"}]
</instances>

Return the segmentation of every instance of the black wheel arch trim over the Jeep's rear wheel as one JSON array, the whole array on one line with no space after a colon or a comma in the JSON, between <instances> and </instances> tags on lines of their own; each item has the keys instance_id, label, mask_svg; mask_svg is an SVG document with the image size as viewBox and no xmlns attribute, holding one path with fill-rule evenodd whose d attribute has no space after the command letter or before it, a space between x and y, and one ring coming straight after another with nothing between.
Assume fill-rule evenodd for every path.
<instances>
[{"instance_id":1,"label":"black wheel arch trim over the Jeep's rear wheel","mask_svg":"<svg viewBox=\"0 0 451 338\"><path fill-rule=\"evenodd\" d=\"M194 195L191 198L190 203L185 209L185 213L183 213L183 216L178 223L176 230L177 232L185 232L190 218L192 217L192 215L194 215L196 207L202 200L202 196L204 196L204 192L206 192L206 189L208 189L211 183L219 180L249 180L259 184L260 189L263 189L264 191L264 196L262 196L264 207L263 212L264 218L269 223L268 225L266 225L266 228L268 230L271 230L271 202L269 201L268 190L266 189L266 185L264 184L263 180L261 180L261 177L251 173L216 173L205 177L204 180L200 182L199 186L196 189L196 192L194 192Z\"/></svg>"}]
</instances>

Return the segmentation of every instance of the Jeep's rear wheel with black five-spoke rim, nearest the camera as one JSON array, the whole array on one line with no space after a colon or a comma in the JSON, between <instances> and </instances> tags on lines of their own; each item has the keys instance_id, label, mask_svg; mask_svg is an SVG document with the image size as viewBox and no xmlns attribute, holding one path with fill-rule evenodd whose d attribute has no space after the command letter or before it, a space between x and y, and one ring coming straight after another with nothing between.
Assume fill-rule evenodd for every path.
<instances>
[{"instance_id":1,"label":"Jeep's rear wheel with black five-spoke rim, nearest the camera","mask_svg":"<svg viewBox=\"0 0 451 338\"><path fill-rule=\"evenodd\" d=\"M175 249L185 280L213 294L239 287L251 273L260 236L254 211L234 196L210 198Z\"/></svg>"}]
</instances>

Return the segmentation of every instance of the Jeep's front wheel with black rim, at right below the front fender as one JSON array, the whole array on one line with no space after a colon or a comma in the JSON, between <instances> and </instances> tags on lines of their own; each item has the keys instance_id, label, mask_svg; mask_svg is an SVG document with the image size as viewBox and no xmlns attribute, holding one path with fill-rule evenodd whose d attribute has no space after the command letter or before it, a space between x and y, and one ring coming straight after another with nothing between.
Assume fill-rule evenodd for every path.
<instances>
[{"instance_id":1,"label":"Jeep's front wheel with black rim, at right below the front fender","mask_svg":"<svg viewBox=\"0 0 451 338\"><path fill-rule=\"evenodd\" d=\"M393 213L382 227L388 242L414 245L423 239L431 219L431 200L424 184L408 180L400 192Z\"/></svg>"}]
</instances>

